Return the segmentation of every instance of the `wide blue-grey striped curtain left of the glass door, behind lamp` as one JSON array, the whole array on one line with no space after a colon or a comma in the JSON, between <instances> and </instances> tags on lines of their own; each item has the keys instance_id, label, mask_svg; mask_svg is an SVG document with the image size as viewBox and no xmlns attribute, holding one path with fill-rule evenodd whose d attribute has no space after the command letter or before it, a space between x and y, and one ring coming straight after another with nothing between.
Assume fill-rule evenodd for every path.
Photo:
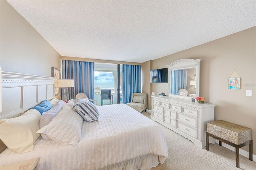
<instances>
[{"instance_id":1,"label":"wide blue-grey striped curtain left of the glass door, behind lamp","mask_svg":"<svg viewBox=\"0 0 256 170\"><path fill-rule=\"evenodd\" d=\"M68 88L68 100L75 99L80 92L94 99L94 63L62 60L62 79L74 79L74 88ZM63 88L61 94L63 99Z\"/></svg>"}]
</instances>

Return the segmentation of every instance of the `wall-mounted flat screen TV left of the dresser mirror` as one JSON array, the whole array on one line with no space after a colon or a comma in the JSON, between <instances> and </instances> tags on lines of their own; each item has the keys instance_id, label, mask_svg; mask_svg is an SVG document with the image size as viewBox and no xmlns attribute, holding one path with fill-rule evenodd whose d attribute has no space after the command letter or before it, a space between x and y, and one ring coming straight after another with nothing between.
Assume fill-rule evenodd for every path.
<instances>
[{"instance_id":1,"label":"wall-mounted flat screen TV left of the dresser mirror","mask_svg":"<svg viewBox=\"0 0 256 170\"><path fill-rule=\"evenodd\" d=\"M150 70L150 83L168 83L168 68Z\"/></svg>"}]
</instances>

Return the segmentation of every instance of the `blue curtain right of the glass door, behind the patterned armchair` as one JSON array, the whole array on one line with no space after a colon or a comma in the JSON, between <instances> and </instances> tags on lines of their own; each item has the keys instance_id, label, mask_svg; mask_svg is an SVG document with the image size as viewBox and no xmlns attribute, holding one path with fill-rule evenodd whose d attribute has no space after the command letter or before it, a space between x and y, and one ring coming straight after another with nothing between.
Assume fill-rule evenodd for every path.
<instances>
[{"instance_id":1,"label":"blue curtain right of the glass door, behind the patterned armchair","mask_svg":"<svg viewBox=\"0 0 256 170\"><path fill-rule=\"evenodd\" d=\"M123 64L123 103L132 100L132 93L141 93L140 66Z\"/></svg>"}]
</instances>

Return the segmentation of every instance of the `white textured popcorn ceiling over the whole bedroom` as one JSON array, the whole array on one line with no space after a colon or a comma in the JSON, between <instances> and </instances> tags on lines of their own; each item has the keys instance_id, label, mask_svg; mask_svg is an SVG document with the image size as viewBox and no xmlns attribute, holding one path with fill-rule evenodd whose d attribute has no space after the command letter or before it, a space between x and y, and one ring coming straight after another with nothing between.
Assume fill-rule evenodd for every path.
<instances>
[{"instance_id":1,"label":"white textured popcorn ceiling over the whole bedroom","mask_svg":"<svg viewBox=\"0 0 256 170\"><path fill-rule=\"evenodd\" d=\"M8 2L62 56L144 62L256 25L256 1Z\"/></svg>"}]
</instances>

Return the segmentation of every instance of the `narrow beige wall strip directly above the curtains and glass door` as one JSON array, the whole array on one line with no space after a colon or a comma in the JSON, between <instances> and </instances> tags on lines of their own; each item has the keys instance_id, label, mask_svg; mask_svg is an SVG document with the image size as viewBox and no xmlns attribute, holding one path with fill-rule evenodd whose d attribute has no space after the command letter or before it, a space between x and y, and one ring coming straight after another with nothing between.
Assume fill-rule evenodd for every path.
<instances>
[{"instance_id":1,"label":"narrow beige wall strip directly above the curtains and glass door","mask_svg":"<svg viewBox=\"0 0 256 170\"><path fill-rule=\"evenodd\" d=\"M60 58L62 60L88 61L88 62L95 62L95 63L129 64L129 65L141 65L142 64L142 63L134 63L134 62L126 62L126 61L98 60L98 59L86 59L86 58L66 57L66 56L61 56Z\"/></svg>"}]
</instances>

